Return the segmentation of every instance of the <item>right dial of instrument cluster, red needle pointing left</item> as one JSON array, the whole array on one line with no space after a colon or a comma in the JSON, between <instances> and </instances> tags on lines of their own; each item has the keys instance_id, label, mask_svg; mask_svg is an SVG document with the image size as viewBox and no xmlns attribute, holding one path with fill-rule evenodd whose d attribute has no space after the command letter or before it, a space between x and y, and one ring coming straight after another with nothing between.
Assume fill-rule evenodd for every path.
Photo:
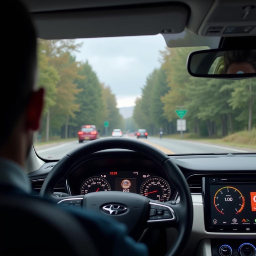
<instances>
[{"instance_id":1,"label":"right dial of instrument cluster, red needle pointing left","mask_svg":"<svg viewBox=\"0 0 256 256\"><path fill-rule=\"evenodd\" d=\"M163 178L150 177L142 183L140 194L156 201L166 202L170 199L171 189Z\"/></svg>"}]
</instances>

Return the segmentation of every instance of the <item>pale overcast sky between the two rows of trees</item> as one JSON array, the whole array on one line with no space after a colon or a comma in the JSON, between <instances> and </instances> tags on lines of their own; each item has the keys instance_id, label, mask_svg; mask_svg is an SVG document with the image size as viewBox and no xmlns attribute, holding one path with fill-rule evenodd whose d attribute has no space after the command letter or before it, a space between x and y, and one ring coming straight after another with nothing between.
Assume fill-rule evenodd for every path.
<instances>
[{"instance_id":1,"label":"pale overcast sky between the two rows of trees","mask_svg":"<svg viewBox=\"0 0 256 256\"><path fill-rule=\"evenodd\" d=\"M133 106L146 77L160 66L159 50L166 47L162 35L77 39L83 42L76 54L88 60L100 82L109 85L118 107Z\"/></svg>"}]
</instances>

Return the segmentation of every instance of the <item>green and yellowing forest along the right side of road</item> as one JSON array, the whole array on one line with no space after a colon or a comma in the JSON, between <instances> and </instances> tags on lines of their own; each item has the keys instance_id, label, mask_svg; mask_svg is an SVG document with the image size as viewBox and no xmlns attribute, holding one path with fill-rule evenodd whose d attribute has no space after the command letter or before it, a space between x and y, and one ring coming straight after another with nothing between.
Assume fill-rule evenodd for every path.
<instances>
[{"instance_id":1,"label":"green and yellowing forest along the right side of road","mask_svg":"<svg viewBox=\"0 0 256 256\"><path fill-rule=\"evenodd\" d=\"M136 99L137 127L156 134L176 133L176 109L187 109L187 131L199 136L226 136L256 125L256 79L227 80L191 77L186 70L190 52L198 47L166 48L161 67L153 70Z\"/></svg>"}]
</instances>

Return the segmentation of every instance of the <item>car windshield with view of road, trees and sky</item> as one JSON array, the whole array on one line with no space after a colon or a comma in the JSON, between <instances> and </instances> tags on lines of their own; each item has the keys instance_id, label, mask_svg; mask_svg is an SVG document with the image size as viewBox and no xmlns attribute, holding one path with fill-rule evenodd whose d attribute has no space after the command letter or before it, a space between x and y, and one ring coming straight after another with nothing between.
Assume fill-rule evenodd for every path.
<instances>
[{"instance_id":1,"label":"car windshield with view of road, trees and sky","mask_svg":"<svg viewBox=\"0 0 256 256\"><path fill-rule=\"evenodd\" d=\"M207 46L168 48L162 35L38 43L46 97L34 146L43 158L112 131L167 154L256 151L256 79L191 77L188 55Z\"/></svg>"}]
</instances>

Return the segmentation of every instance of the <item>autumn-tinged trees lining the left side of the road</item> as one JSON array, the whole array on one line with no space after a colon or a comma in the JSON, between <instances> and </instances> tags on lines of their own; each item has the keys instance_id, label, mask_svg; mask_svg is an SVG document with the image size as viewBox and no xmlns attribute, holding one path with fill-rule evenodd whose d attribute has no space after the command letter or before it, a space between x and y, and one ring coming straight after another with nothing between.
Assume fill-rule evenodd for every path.
<instances>
[{"instance_id":1,"label":"autumn-tinged trees lining the left side of the road","mask_svg":"<svg viewBox=\"0 0 256 256\"><path fill-rule=\"evenodd\" d=\"M75 137L84 124L94 124L103 132L105 120L110 124L109 133L116 127L124 129L125 121L110 87L100 83L88 61L76 61L74 53L81 44L75 40L38 42L38 84L46 90L39 131L42 138Z\"/></svg>"}]
</instances>

